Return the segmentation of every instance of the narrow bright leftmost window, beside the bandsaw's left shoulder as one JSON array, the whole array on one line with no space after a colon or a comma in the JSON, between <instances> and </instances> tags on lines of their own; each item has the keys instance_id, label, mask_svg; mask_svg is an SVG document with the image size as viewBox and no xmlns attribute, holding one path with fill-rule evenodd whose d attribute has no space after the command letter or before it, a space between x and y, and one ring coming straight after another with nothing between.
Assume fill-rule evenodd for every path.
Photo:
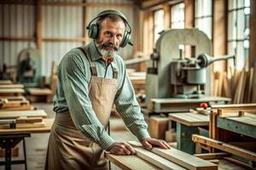
<instances>
[{"instance_id":1,"label":"narrow bright leftmost window, beside the bandsaw's left shoulder","mask_svg":"<svg viewBox=\"0 0 256 170\"><path fill-rule=\"evenodd\" d=\"M164 10L154 11L154 43L160 37L160 32L164 30Z\"/></svg>"}]
</instances>

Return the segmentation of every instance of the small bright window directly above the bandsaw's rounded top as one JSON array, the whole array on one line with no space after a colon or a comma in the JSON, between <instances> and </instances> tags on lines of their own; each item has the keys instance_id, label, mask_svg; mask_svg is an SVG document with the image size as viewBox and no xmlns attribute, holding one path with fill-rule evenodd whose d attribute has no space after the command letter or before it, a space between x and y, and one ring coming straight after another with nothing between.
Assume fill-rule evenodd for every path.
<instances>
[{"instance_id":1,"label":"small bright window directly above the bandsaw's rounded top","mask_svg":"<svg viewBox=\"0 0 256 170\"><path fill-rule=\"evenodd\" d=\"M184 28L184 3L177 3L171 8L171 28Z\"/></svg>"}]
</instances>

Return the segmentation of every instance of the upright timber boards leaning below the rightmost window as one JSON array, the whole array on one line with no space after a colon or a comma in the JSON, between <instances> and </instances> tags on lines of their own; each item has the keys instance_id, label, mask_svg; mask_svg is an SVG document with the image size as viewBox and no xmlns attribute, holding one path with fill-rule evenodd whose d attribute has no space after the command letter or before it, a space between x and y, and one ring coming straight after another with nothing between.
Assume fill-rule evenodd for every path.
<instances>
[{"instance_id":1,"label":"upright timber boards leaning below the rightmost window","mask_svg":"<svg viewBox=\"0 0 256 170\"><path fill-rule=\"evenodd\" d=\"M252 103L256 99L254 68L242 71L214 72L213 96L232 99L233 104Z\"/></svg>"}]
</instances>

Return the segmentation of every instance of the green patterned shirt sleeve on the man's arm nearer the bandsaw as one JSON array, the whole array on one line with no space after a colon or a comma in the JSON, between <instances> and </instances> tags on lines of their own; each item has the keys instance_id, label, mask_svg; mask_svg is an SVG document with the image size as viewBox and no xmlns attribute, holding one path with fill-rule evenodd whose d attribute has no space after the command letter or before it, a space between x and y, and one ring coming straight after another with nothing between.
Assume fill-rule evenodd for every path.
<instances>
[{"instance_id":1,"label":"green patterned shirt sleeve on the man's arm nearer the bandsaw","mask_svg":"<svg viewBox=\"0 0 256 170\"><path fill-rule=\"evenodd\" d=\"M116 95L114 104L116 109L122 116L125 125L131 130L139 141L145 138L150 138L148 134L148 125L144 121L141 108L137 103L134 88L132 87L131 80L126 72L125 64L122 63L122 70L119 73L122 76L120 87Z\"/></svg>"}]
</instances>

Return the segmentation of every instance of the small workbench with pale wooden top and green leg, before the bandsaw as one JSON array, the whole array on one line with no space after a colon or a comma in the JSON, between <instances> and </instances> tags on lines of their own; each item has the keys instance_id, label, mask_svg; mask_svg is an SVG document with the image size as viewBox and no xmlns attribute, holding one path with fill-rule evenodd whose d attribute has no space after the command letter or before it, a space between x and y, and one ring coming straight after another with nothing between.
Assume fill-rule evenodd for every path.
<instances>
[{"instance_id":1,"label":"small workbench with pale wooden top and green leg, before the bandsaw","mask_svg":"<svg viewBox=\"0 0 256 170\"><path fill-rule=\"evenodd\" d=\"M199 134L199 127L209 126L209 116L195 112L172 113L169 119L176 122L177 149L189 154L195 154L195 143L192 134ZM207 134L204 134L208 136Z\"/></svg>"}]
</instances>

